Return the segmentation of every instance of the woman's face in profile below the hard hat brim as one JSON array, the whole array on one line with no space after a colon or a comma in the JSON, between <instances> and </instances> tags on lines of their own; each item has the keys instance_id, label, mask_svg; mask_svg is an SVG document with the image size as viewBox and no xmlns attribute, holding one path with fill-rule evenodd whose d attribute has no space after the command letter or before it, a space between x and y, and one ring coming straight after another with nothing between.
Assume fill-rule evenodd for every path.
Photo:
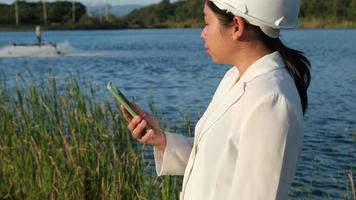
<instances>
[{"instance_id":1,"label":"woman's face in profile below the hard hat brim","mask_svg":"<svg viewBox=\"0 0 356 200\"><path fill-rule=\"evenodd\" d=\"M228 28L220 24L216 14L205 4L204 6L205 27L201 38L205 42L205 49L215 63L229 63L229 47L231 40L228 37Z\"/></svg>"}]
</instances>

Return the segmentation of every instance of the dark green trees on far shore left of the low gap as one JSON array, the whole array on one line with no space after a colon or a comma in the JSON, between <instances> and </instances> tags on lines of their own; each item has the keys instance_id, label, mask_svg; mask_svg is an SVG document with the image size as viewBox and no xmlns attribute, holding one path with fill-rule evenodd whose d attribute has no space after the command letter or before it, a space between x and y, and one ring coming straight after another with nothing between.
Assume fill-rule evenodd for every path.
<instances>
[{"instance_id":1,"label":"dark green trees on far shore left of the low gap","mask_svg":"<svg viewBox=\"0 0 356 200\"><path fill-rule=\"evenodd\" d=\"M49 29L100 29L126 28L121 18L112 14L105 17L88 16L87 8L80 2L26 2L0 3L0 28L44 25Z\"/></svg>"}]
</instances>

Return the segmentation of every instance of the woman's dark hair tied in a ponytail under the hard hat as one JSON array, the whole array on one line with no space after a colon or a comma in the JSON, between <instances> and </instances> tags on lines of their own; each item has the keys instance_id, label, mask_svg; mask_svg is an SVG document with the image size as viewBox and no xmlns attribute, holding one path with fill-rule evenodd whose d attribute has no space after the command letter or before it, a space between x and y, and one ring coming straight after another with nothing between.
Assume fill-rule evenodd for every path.
<instances>
[{"instance_id":1,"label":"woman's dark hair tied in a ponytail under the hard hat","mask_svg":"<svg viewBox=\"0 0 356 200\"><path fill-rule=\"evenodd\" d=\"M220 10L213 2L207 0L207 5L217 15L220 23L223 26L229 26L233 23L234 15L224 10ZM281 54L289 74L294 79L299 97L302 103L303 114L308 107L307 89L310 84L310 62L303 55L303 52L288 48L279 38L271 38L262 32L260 27L248 24L252 29L255 29L259 34L263 43L272 51L278 51Z\"/></svg>"}]
</instances>

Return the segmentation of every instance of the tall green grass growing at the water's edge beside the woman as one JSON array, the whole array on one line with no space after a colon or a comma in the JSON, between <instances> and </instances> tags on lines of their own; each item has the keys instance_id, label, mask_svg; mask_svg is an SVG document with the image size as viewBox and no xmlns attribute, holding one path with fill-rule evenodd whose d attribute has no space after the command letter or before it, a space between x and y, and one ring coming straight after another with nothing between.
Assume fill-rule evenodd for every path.
<instances>
[{"instance_id":1,"label":"tall green grass growing at the water's edge beside the woman","mask_svg":"<svg viewBox=\"0 0 356 200\"><path fill-rule=\"evenodd\" d=\"M0 199L177 199L181 178L145 170L117 107L96 103L92 86L40 85L0 85Z\"/></svg>"}]
</instances>

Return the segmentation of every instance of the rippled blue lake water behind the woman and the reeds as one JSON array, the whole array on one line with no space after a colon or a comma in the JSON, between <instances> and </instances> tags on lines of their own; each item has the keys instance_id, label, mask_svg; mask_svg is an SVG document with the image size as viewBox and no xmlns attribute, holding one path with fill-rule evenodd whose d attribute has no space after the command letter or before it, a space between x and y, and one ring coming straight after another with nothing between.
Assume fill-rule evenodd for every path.
<instances>
[{"instance_id":1,"label":"rippled blue lake water behind the woman and the reeds","mask_svg":"<svg viewBox=\"0 0 356 200\"><path fill-rule=\"evenodd\" d=\"M227 66L213 64L200 29L48 31L64 55L13 57L12 42L34 42L32 32L0 32L0 73L47 78L63 83L68 75L90 76L100 98L111 98L108 81L135 96L143 108L154 98L169 123L190 114L198 120ZM345 199L352 172L356 180L356 30L286 31L282 39L312 62L305 139L293 199ZM349 196L351 199L351 196Z\"/></svg>"}]
</instances>

